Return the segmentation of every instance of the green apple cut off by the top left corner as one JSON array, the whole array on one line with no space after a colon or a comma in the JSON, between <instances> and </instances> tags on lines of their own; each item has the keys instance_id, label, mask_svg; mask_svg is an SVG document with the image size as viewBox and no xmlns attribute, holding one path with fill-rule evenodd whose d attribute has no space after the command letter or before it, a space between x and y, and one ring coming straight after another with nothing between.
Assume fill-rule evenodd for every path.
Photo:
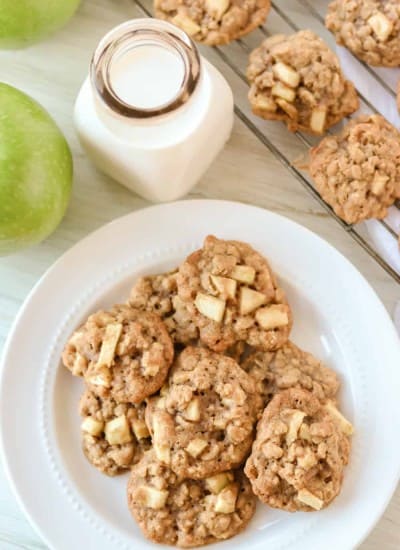
<instances>
[{"instance_id":1,"label":"green apple cut off by the top left corner","mask_svg":"<svg viewBox=\"0 0 400 550\"><path fill-rule=\"evenodd\" d=\"M0 48L21 48L62 27L80 0L0 0Z\"/></svg>"}]
</instances>

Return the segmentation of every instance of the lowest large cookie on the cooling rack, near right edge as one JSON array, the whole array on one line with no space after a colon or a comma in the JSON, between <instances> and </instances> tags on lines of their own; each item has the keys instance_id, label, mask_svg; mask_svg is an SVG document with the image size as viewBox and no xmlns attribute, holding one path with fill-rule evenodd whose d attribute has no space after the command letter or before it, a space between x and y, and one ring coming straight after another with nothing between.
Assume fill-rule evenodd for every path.
<instances>
[{"instance_id":1,"label":"lowest large cookie on the cooling rack, near right edge","mask_svg":"<svg viewBox=\"0 0 400 550\"><path fill-rule=\"evenodd\" d=\"M345 222L384 218L400 197L400 132L380 115L362 115L311 149L309 170Z\"/></svg>"}]
</instances>

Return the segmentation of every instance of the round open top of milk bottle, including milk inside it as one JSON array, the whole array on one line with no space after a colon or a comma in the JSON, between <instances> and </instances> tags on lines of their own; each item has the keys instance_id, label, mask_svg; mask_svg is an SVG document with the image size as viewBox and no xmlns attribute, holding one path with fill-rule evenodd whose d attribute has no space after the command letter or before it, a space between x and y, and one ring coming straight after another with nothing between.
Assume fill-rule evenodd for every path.
<instances>
[{"instance_id":1,"label":"round open top of milk bottle, including milk inside it","mask_svg":"<svg viewBox=\"0 0 400 550\"><path fill-rule=\"evenodd\" d=\"M114 115L151 119L185 105L200 73L197 48L183 31L165 21L135 19L101 40L90 80L97 98Z\"/></svg>"}]
</instances>

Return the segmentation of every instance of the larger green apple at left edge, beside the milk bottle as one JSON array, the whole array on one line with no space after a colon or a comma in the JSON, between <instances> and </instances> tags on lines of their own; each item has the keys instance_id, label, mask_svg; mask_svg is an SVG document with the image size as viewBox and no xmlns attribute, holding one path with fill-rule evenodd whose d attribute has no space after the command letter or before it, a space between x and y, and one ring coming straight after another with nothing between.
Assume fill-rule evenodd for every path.
<instances>
[{"instance_id":1,"label":"larger green apple at left edge, beside the milk bottle","mask_svg":"<svg viewBox=\"0 0 400 550\"><path fill-rule=\"evenodd\" d=\"M0 255L46 238L68 206L68 144L32 98L0 82Z\"/></svg>"}]
</instances>

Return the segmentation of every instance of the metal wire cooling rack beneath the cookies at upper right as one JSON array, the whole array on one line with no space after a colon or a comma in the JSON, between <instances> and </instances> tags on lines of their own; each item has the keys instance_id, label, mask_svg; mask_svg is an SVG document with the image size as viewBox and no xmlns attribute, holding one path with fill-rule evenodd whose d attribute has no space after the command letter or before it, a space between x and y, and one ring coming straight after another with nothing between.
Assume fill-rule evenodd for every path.
<instances>
[{"instance_id":1,"label":"metal wire cooling rack beneath the cookies at upper right","mask_svg":"<svg viewBox=\"0 0 400 550\"><path fill-rule=\"evenodd\" d=\"M133 0L133 9L138 17L152 16L152 0ZM285 166L289 172L307 189L315 200L339 223L343 229L379 264L381 267L400 283L400 272L392 267L376 250L371 241L365 224L349 225L341 220L321 198L314 188L311 179L306 172L297 168L293 161L304 157L310 147L318 143L319 138L296 132L288 132L286 126L280 122L268 122L254 116L247 100L248 83L246 79L246 67L248 55L257 47L265 37L272 34L291 34L300 29L311 29L321 36L334 48L334 41L324 26L324 17L329 0L276 0L272 2L272 9L264 26L259 27L250 35L236 40L227 46L214 48L201 46L200 51L208 58L225 76L234 91L236 116L255 134L261 143ZM372 78L386 94L396 98L394 87L392 88L380 74L380 70L372 69L362 61L354 58L360 71L368 78ZM360 96L361 111L364 113L377 113L376 107L358 90ZM337 129L332 128L334 133ZM400 210L400 202L395 207ZM393 239L398 235L388 220L377 220L384 230Z\"/></svg>"}]
</instances>

